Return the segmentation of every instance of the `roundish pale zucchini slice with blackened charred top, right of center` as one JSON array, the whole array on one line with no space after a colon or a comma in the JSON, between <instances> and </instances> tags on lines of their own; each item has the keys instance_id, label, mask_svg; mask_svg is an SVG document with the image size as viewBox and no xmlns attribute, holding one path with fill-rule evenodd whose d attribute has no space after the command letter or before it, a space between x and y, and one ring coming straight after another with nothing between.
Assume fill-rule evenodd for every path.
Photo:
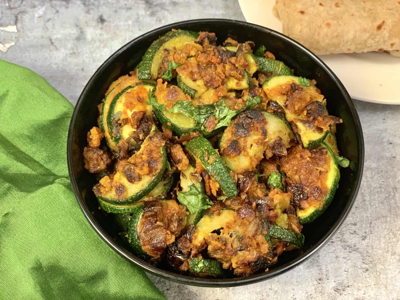
<instances>
[{"instance_id":1,"label":"roundish pale zucchini slice with blackened charred top, right of center","mask_svg":"<svg viewBox=\"0 0 400 300\"><path fill-rule=\"evenodd\" d=\"M250 132L245 129L248 124L252 124ZM292 139L290 124L283 118L260 110L247 110L225 129L220 139L221 158L235 173L255 171L264 152L266 158L273 154L286 155Z\"/></svg>"}]
</instances>

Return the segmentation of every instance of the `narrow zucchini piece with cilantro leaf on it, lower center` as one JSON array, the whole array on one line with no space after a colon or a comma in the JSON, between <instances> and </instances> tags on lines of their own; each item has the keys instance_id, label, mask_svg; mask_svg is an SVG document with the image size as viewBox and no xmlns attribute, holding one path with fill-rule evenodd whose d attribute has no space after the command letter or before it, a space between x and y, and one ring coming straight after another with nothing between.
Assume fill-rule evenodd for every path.
<instances>
[{"instance_id":1,"label":"narrow zucchini piece with cilantro leaf on it, lower center","mask_svg":"<svg viewBox=\"0 0 400 300\"><path fill-rule=\"evenodd\" d=\"M181 172L180 186L182 191L178 192L178 201L183 206L186 206L190 212L186 217L186 224L196 225L203 216L204 210L209 208L213 203L206 195L201 177L196 174L196 171L190 164L186 170Z\"/></svg>"}]
</instances>

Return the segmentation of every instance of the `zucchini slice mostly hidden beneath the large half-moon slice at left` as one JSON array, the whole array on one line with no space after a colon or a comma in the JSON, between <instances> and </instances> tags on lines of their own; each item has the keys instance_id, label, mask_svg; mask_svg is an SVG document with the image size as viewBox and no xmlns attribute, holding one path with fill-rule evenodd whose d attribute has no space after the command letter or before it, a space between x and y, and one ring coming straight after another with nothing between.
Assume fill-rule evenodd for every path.
<instances>
[{"instance_id":1,"label":"zucchini slice mostly hidden beneath the large half-moon slice at left","mask_svg":"<svg viewBox=\"0 0 400 300\"><path fill-rule=\"evenodd\" d=\"M174 183L174 178L172 176L162 179L150 193L148 193L138 202L148 201L150 200L150 197L164 198L166 196L166 192L168 192L171 189L173 183ZM120 204L109 203L101 199L98 199L98 201L100 207L103 210L114 214L130 214L134 210L136 210L136 205L138 204L138 202L135 202L134 204L120 205Z\"/></svg>"}]
</instances>

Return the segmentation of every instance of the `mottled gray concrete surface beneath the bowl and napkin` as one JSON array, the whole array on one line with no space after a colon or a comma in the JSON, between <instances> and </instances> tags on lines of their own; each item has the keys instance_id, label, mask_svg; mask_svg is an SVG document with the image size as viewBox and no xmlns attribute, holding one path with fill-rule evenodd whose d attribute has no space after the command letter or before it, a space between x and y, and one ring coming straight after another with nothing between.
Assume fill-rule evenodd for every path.
<instances>
[{"instance_id":1,"label":"mottled gray concrete surface beneath the bowl and napkin","mask_svg":"<svg viewBox=\"0 0 400 300\"><path fill-rule=\"evenodd\" d=\"M236 0L0 0L0 58L39 73L75 104L120 46L193 18L244 20ZM150 276L156 286L169 299L400 299L400 106L356 106L364 177L350 215L322 250L286 274L249 286L198 288Z\"/></svg>"}]
</instances>

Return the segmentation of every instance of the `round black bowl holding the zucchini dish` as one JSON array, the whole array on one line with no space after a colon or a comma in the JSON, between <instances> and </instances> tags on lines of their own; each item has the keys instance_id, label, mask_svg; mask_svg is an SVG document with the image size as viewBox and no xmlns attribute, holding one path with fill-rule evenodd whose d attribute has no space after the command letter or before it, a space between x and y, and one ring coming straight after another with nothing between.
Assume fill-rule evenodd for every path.
<instances>
[{"instance_id":1,"label":"round black bowl holding the zucchini dish","mask_svg":"<svg viewBox=\"0 0 400 300\"><path fill-rule=\"evenodd\" d=\"M137 258L113 236L107 214L98 209L92 192L94 176L83 169L82 151L86 145L86 132L96 124L97 105L101 102L108 86L119 76L128 74L141 60L152 41L172 28L215 32L220 43L229 36L244 42L252 40L256 45L264 44L278 60L294 69L297 76L317 80L317 86L328 99L330 114L343 119L337 126L337 140L340 153L350 159L353 170L342 168L339 188L332 204L319 218L304 226L306 237L300 250L285 252L269 272L260 272L248 277L195 278L174 272L168 266L155 267ZM364 164L364 140L360 120L354 104L335 74L312 52L294 40L268 28L234 20L206 19L184 21L152 30L132 40L98 68L86 84L76 104L68 133L68 170L78 203L89 223L100 237L126 260L140 266L147 272L176 282L197 286L239 286L272 278L304 262L332 238L350 212L361 182Z\"/></svg>"}]
</instances>

